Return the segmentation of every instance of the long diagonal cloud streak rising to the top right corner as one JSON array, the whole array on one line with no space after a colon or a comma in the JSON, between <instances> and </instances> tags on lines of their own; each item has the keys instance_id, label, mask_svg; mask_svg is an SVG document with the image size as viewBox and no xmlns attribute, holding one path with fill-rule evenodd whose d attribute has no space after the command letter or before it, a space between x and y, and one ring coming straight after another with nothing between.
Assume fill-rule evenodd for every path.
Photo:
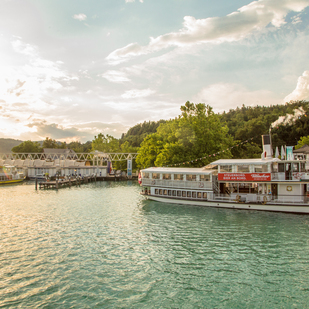
<instances>
[{"instance_id":1,"label":"long diagonal cloud streak rising to the top right corner","mask_svg":"<svg viewBox=\"0 0 309 309\"><path fill-rule=\"evenodd\" d=\"M130 43L110 53L106 60L118 64L134 56L146 55L170 46L187 46L198 43L239 41L269 24L280 27L290 11L300 12L309 6L309 0L258 0L223 17L195 19L185 16L183 29L150 38L146 46Z\"/></svg>"}]
</instances>

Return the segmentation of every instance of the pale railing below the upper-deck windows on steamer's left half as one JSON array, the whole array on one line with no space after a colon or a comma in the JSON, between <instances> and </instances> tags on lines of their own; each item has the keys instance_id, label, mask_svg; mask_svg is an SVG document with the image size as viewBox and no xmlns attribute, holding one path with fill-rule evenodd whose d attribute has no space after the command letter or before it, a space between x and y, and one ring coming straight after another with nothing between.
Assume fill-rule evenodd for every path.
<instances>
[{"instance_id":1,"label":"pale railing below the upper-deck windows on steamer's left half","mask_svg":"<svg viewBox=\"0 0 309 309\"><path fill-rule=\"evenodd\" d=\"M196 190L212 190L211 181L183 181L183 180L165 180L165 179L142 179L143 186L164 187L164 188L183 188Z\"/></svg>"}]
</instances>

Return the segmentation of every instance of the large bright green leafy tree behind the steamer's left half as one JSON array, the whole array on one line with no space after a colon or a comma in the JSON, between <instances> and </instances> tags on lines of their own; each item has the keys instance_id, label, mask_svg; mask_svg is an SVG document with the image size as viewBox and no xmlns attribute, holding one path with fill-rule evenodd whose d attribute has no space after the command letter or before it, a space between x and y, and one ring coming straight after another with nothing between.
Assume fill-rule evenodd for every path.
<instances>
[{"instance_id":1,"label":"large bright green leafy tree behind the steamer's left half","mask_svg":"<svg viewBox=\"0 0 309 309\"><path fill-rule=\"evenodd\" d=\"M233 140L210 106L188 101L181 111L178 118L161 123L156 133L144 139L136 159L139 167L201 166L213 159L212 154L216 159L231 157L228 148Z\"/></svg>"}]
</instances>

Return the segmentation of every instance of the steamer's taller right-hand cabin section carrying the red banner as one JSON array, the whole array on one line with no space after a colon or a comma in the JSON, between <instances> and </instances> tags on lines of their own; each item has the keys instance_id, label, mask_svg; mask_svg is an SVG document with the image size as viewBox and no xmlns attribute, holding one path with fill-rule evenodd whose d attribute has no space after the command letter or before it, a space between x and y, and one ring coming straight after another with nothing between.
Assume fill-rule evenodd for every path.
<instances>
[{"instance_id":1,"label":"steamer's taller right-hand cabin section carrying the red banner","mask_svg":"<svg viewBox=\"0 0 309 309\"><path fill-rule=\"evenodd\" d=\"M309 180L305 161L272 159L218 160L206 168L216 169L219 195L243 196L256 202L261 197L296 201L306 195Z\"/></svg>"}]
</instances>

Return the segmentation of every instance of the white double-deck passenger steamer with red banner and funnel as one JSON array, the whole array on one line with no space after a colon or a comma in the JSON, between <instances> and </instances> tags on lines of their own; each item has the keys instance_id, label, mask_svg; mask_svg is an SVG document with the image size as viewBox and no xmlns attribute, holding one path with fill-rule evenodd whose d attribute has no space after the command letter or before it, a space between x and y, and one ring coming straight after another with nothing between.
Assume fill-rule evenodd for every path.
<instances>
[{"instance_id":1,"label":"white double-deck passenger steamer with red banner and funnel","mask_svg":"<svg viewBox=\"0 0 309 309\"><path fill-rule=\"evenodd\" d=\"M309 173L304 160L272 157L263 136L261 159L221 159L203 168L151 167L141 171L151 200L236 209L309 214Z\"/></svg>"}]
</instances>

